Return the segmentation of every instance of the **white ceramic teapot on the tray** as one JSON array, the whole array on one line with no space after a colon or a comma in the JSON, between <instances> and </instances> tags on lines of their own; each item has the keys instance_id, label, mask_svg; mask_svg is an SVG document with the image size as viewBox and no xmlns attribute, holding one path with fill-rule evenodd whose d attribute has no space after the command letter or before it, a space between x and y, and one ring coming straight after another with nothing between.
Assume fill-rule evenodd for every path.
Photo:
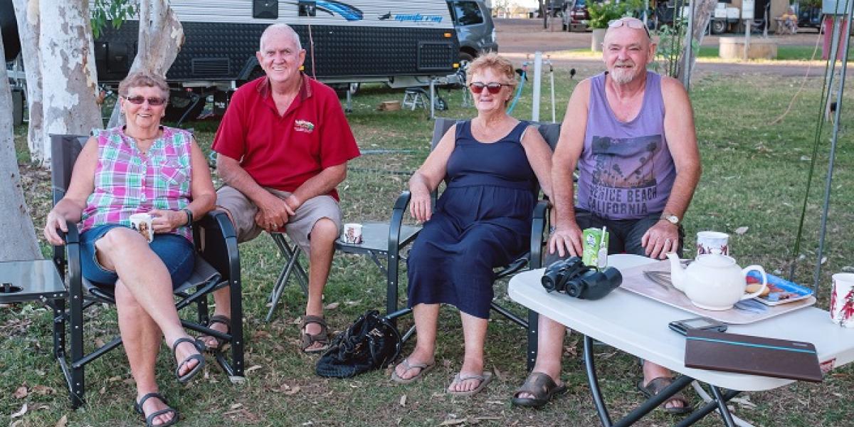
<instances>
[{"instance_id":1,"label":"white ceramic teapot on the tray","mask_svg":"<svg viewBox=\"0 0 854 427\"><path fill-rule=\"evenodd\" d=\"M670 259L670 282L685 295L693 305L706 310L728 310L741 300L753 298L763 293L768 277L762 266L741 268L727 255L699 255L689 266L682 267L679 256L667 254ZM745 295L747 272L756 270L762 275L762 287L752 294Z\"/></svg>"}]
</instances>

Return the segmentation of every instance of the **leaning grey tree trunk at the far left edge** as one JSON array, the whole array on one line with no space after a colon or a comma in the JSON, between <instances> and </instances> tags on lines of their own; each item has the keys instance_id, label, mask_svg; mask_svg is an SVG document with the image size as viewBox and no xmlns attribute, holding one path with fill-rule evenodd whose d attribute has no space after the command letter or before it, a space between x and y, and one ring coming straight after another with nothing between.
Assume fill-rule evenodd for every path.
<instances>
[{"instance_id":1,"label":"leaning grey tree trunk at the far left edge","mask_svg":"<svg viewBox=\"0 0 854 427\"><path fill-rule=\"evenodd\" d=\"M3 34L0 33L0 58L3 57ZM0 69L0 111L12 111L6 67ZM0 114L0 177L4 178L0 185L0 261L39 260L42 255L20 187L12 114Z\"/></svg>"}]
</instances>

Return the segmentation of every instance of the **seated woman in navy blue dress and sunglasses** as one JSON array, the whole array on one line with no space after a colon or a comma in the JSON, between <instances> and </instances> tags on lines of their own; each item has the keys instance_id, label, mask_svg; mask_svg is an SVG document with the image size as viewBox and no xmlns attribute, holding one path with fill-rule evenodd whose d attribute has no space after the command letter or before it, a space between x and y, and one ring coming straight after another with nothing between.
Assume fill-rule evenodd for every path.
<instances>
[{"instance_id":1,"label":"seated woman in navy blue dress and sunglasses","mask_svg":"<svg viewBox=\"0 0 854 427\"><path fill-rule=\"evenodd\" d=\"M512 63L491 54L469 67L477 117L452 126L409 180L412 217L424 222L409 254L409 307L418 342L392 379L411 383L433 368L439 305L459 308L465 358L447 388L477 393L483 371L493 268L524 254L539 186L551 192L551 155L534 126L506 113L516 86ZM430 191L447 189L430 209Z\"/></svg>"}]
</instances>

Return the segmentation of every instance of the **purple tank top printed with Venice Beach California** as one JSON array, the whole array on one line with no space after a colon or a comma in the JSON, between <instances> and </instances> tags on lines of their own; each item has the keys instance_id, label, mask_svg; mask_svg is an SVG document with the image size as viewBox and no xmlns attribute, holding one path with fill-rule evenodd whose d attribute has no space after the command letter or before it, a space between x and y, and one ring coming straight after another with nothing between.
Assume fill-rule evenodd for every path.
<instances>
[{"instance_id":1,"label":"purple tank top printed with Venice Beach California","mask_svg":"<svg viewBox=\"0 0 854 427\"><path fill-rule=\"evenodd\" d=\"M662 212L676 167L664 137L661 76L646 72L643 105L629 122L611 112L605 73L591 81L587 133L578 161L578 208L607 219Z\"/></svg>"}]
</instances>

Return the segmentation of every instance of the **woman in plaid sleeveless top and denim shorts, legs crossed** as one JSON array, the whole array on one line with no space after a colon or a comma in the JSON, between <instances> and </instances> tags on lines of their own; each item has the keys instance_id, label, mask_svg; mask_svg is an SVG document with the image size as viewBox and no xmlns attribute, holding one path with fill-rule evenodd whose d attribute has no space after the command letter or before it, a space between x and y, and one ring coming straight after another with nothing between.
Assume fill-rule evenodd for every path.
<instances>
[{"instance_id":1,"label":"woman in plaid sleeveless top and denim shorts, legs crossed","mask_svg":"<svg viewBox=\"0 0 854 427\"><path fill-rule=\"evenodd\" d=\"M161 336L172 346L180 382L205 362L181 327L172 291L193 271L190 223L213 208L215 193L208 162L190 132L161 126L166 81L132 73L119 85L119 96L126 126L92 132L66 196L48 214L44 237L60 245L57 229L80 223L83 276L115 288L119 329L137 383L133 407L149 426L165 426L178 421L178 412L155 382ZM132 230L133 213L154 218L154 241Z\"/></svg>"}]
</instances>

